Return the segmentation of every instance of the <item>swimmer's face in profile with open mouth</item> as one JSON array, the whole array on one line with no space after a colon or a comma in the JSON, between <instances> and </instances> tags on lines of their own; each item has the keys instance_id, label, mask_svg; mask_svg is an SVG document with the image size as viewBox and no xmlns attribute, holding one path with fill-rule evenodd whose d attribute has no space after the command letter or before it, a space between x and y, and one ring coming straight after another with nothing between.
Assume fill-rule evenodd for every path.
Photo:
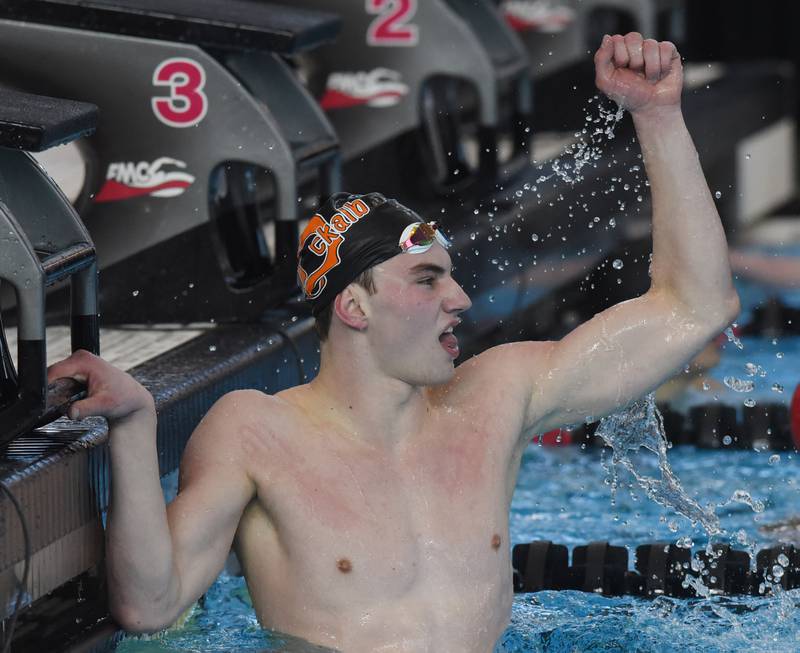
<instances>
[{"instance_id":1,"label":"swimmer's face in profile with open mouth","mask_svg":"<svg viewBox=\"0 0 800 653\"><path fill-rule=\"evenodd\" d=\"M400 254L375 266L375 294L367 298L367 337L378 365L412 385L453 377L454 340L440 340L471 305L451 276L452 261L435 243L421 254Z\"/></svg>"}]
</instances>

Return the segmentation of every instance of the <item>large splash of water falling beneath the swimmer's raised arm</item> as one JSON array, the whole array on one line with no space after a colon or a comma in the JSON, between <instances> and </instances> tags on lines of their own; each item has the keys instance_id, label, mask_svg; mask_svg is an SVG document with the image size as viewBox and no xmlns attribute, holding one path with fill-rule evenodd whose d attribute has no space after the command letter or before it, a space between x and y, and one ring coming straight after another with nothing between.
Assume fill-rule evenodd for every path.
<instances>
[{"instance_id":1,"label":"large splash of water falling beneath the swimmer's raised arm","mask_svg":"<svg viewBox=\"0 0 800 653\"><path fill-rule=\"evenodd\" d=\"M664 420L656 407L653 394L633 402L622 412L602 419L596 435L611 447L611 464L627 469L650 499L673 509L693 523L699 523L709 535L722 533L719 518L714 511L703 508L686 493L669 465ZM646 449L657 456L660 478L648 476L637 468L631 459L631 453L640 449Z\"/></svg>"}]
</instances>

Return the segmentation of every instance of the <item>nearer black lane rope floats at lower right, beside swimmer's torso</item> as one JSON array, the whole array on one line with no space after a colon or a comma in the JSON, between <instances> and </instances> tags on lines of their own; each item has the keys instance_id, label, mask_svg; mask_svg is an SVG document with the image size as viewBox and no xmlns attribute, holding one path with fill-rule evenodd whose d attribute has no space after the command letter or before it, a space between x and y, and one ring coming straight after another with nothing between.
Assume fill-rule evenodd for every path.
<instances>
[{"instance_id":1,"label":"nearer black lane rope floats at lower right, beside swimmer's torso","mask_svg":"<svg viewBox=\"0 0 800 653\"><path fill-rule=\"evenodd\" d=\"M628 549L608 542L590 542L569 552L562 544L544 540L517 544L512 552L514 592L578 590L606 596L699 596L692 577L710 595L763 595L771 586L784 590L800 587L800 550L791 544L762 549L756 554L755 571L750 554L714 544L700 551L692 563L692 551L674 543L654 542L636 547L634 570L628 569ZM695 581L696 582L696 581Z\"/></svg>"}]
</instances>

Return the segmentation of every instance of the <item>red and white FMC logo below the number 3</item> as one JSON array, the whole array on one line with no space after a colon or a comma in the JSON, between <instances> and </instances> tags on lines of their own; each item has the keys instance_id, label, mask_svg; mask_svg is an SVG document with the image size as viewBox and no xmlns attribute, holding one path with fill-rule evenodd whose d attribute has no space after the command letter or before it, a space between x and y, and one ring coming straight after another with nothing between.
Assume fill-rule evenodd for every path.
<instances>
[{"instance_id":1,"label":"red and white FMC logo below the number 3","mask_svg":"<svg viewBox=\"0 0 800 653\"><path fill-rule=\"evenodd\" d=\"M178 168L178 170L174 168ZM186 168L183 161L167 156L162 156L152 162L119 161L110 163L106 172L105 184L97 193L94 201L117 202L142 195L177 197L194 182L194 177L188 172L183 172L183 168Z\"/></svg>"}]
</instances>

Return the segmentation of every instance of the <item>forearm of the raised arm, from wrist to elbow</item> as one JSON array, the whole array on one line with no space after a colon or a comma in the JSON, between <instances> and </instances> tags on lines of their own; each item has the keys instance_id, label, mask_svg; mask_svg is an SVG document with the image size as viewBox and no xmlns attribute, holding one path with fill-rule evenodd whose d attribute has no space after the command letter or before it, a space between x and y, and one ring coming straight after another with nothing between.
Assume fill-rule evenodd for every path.
<instances>
[{"instance_id":1,"label":"forearm of the raised arm, from wrist to elbow","mask_svg":"<svg viewBox=\"0 0 800 653\"><path fill-rule=\"evenodd\" d=\"M679 106L634 113L653 204L652 289L704 320L738 310L725 233Z\"/></svg>"}]
</instances>

